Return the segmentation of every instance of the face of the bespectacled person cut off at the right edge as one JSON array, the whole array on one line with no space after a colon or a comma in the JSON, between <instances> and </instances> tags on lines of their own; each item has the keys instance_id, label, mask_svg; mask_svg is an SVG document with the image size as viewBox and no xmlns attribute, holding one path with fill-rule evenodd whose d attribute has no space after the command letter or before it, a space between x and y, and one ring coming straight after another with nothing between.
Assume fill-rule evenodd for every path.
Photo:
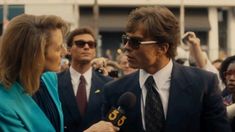
<instances>
[{"instance_id":1,"label":"face of the bespectacled person cut off at the right edge","mask_svg":"<svg viewBox=\"0 0 235 132\"><path fill-rule=\"evenodd\" d=\"M229 64L225 72L225 79L228 90L235 93L235 62Z\"/></svg>"}]
</instances>

